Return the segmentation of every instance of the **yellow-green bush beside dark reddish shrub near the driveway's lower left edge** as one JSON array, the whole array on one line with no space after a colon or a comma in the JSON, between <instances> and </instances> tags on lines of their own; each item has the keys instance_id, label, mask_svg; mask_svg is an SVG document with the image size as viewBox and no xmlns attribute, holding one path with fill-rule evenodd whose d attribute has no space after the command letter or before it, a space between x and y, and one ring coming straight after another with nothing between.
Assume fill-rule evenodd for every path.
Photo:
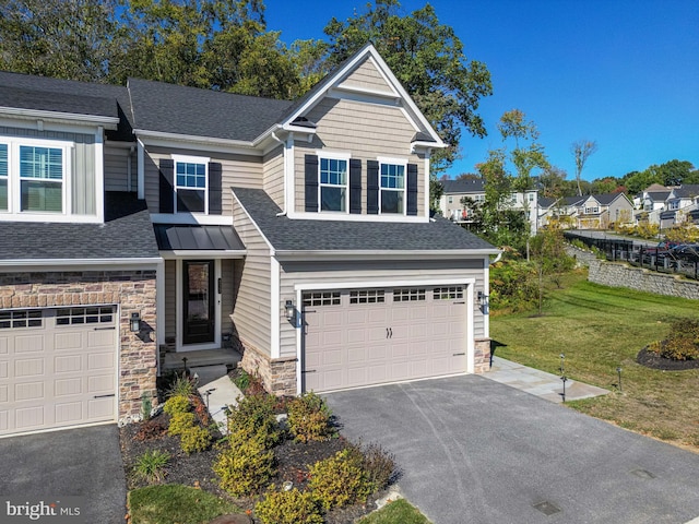
<instances>
[{"instance_id":1,"label":"yellow-green bush beside dark reddish shrub near the driveway's lower left edge","mask_svg":"<svg viewBox=\"0 0 699 524\"><path fill-rule=\"evenodd\" d=\"M327 511L366 501L375 490L362 466L362 455L344 449L308 468L308 487Z\"/></svg>"}]
</instances>

